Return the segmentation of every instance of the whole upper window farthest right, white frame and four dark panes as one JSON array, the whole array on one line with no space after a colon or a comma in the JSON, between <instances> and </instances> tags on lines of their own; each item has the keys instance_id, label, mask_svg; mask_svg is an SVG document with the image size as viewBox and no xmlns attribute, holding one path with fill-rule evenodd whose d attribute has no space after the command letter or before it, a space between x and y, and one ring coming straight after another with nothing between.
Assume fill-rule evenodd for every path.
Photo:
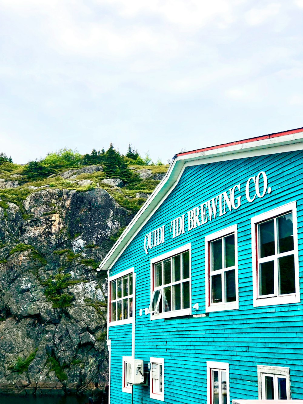
<instances>
[{"instance_id":1,"label":"whole upper window farthest right, white frame and four dark panes","mask_svg":"<svg viewBox=\"0 0 303 404\"><path fill-rule=\"evenodd\" d=\"M253 217L251 223L254 306L299 303L296 202Z\"/></svg>"}]
</instances>

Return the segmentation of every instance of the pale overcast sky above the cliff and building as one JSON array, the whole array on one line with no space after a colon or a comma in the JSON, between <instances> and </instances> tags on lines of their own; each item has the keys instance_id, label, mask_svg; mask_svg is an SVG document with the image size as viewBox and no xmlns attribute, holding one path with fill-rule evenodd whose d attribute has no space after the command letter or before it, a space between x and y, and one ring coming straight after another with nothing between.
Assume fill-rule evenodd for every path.
<instances>
[{"instance_id":1,"label":"pale overcast sky above the cliff and building","mask_svg":"<svg viewBox=\"0 0 303 404\"><path fill-rule=\"evenodd\" d=\"M0 151L164 162L303 126L303 0L0 0Z\"/></svg>"}]
</instances>

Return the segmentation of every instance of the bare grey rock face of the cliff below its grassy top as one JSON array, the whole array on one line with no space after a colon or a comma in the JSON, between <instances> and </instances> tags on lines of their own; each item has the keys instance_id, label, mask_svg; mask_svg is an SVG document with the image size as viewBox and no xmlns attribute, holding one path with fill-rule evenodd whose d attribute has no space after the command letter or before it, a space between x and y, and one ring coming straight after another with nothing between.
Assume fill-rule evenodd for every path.
<instances>
[{"instance_id":1,"label":"bare grey rock face of the cliff below its grassy top","mask_svg":"<svg viewBox=\"0 0 303 404\"><path fill-rule=\"evenodd\" d=\"M2 392L107 382L107 274L96 268L133 213L99 187L45 188L0 201Z\"/></svg>"}]
</instances>

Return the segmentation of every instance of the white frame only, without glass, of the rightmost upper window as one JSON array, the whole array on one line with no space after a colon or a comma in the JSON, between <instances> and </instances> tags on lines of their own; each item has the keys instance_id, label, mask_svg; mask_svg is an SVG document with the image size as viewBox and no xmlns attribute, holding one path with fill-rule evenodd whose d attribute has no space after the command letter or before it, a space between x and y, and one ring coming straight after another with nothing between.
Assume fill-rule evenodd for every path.
<instances>
[{"instance_id":1,"label":"white frame only, without glass, of the rightmost upper window","mask_svg":"<svg viewBox=\"0 0 303 404\"><path fill-rule=\"evenodd\" d=\"M259 236L257 234L257 225L274 219L284 213L292 212L292 225L293 225L293 237L294 237L294 257L295 257L295 293L289 295L280 295L273 297L258 297L258 281L257 281L257 260L258 260L258 245ZM290 202L278 208L269 210L261 215L252 217L251 219L251 234L252 234L252 281L253 281L253 305L254 307L278 305L278 304L290 304L300 303L300 285L299 285L299 259L298 259L298 229L297 229L297 203ZM272 256L277 257L278 254ZM275 269L276 270L276 269ZM275 274L275 282L278 282L278 277Z\"/></svg>"}]
</instances>

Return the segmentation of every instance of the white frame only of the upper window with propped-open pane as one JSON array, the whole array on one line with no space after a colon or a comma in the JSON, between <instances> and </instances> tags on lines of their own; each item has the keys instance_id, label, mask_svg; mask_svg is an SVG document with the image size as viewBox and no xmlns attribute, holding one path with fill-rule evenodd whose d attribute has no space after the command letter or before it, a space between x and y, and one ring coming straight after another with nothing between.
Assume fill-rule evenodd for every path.
<instances>
[{"instance_id":1,"label":"white frame only of the upper window with propped-open pane","mask_svg":"<svg viewBox=\"0 0 303 404\"><path fill-rule=\"evenodd\" d=\"M173 257L174 255L182 254L183 252L189 251L189 308L188 309L180 309L175 311L167 311L164 313L151 313L150 318L151 320L158 320L159 318L170 318L170 317L179 317L179 316L188 316L191 315L191 243L186 244L182 247L176 248L175 250L170 250L165 254L159 255L150 260L150 303L154 293L154 284L153 284L153 271L154 271L154 264L159 261L164 261L167 258ZM178 282L171 282L173 283L182 283L182 281ZM160 296L162 292L160 292ZM159 296L159 298L160 298ZM158 298L158 300L159 300Z\"/></svg>"}]
</instances>

